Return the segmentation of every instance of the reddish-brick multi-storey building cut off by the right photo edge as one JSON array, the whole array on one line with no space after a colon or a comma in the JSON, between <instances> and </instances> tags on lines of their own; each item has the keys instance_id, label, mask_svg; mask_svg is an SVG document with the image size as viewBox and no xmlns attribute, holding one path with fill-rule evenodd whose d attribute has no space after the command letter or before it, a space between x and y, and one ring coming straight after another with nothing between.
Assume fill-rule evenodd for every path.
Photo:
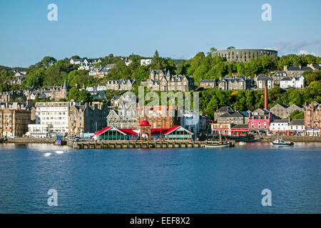
<instances>
[{"instance_id":1,"label":"reddish-brick multi-storey building cut off by the right photo edge","mask_svg":"<svg viewBox=\"0 0 321 228\"><path fill-rule=\"evenodd\" d=\"M321 105L315 101L305 103L305 135L320 136Z\"/></svg>"}]
</instances>

